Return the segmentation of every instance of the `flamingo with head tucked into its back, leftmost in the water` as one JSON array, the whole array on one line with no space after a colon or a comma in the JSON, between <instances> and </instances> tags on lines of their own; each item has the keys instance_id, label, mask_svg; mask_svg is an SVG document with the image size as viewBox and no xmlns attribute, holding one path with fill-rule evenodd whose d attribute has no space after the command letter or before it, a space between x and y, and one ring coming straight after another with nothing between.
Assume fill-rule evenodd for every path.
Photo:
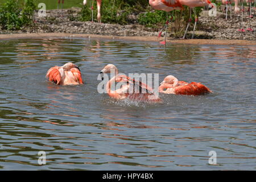
<instances>
[{"instance_id":1,"label":"flamingo with head tucked into its back, leftmost in the water","mask_svg":"<svg viewBox=\"0 0 256 182\"><path fill-rule=\"evenodd\" d=\"M56 85L79 85L83 84L79 67L69 62L62 67L52 67L48 70L46 78Z\"/></svg>"}]
</instances>

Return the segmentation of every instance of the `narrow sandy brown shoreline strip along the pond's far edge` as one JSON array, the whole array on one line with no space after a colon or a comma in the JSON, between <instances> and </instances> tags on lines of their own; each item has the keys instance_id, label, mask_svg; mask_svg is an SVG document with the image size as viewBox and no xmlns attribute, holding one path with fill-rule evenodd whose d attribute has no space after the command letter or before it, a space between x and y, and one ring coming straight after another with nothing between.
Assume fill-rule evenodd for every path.
<instances>
[{"instance_id":1,"label":"narrow sandy brown shoreline strip along the pond's far edge","mask_svg":"<svg viewBox=\"0 0 256 182\"><path fill-rule=\"evenodd\" d=\"M0 40L11 39L33 39L33 38L92 38L92 39L112 39L136 42L160 42L163 38L157 36L111 36L96 34L72 34L72 33L29 33L29 34L0 34ZM167 39L167 43L174 44L194 44L194 45L219 45L219 46L256 46L256 40L237 39Z\"/></svg>"}]
</instances>

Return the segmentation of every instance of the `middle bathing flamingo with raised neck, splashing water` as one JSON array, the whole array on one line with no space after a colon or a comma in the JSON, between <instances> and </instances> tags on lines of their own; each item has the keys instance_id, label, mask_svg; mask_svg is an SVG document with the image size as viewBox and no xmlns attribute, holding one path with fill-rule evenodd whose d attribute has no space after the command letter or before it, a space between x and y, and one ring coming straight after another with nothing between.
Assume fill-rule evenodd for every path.
<instances>
[{"instance_id":1,"label":"middle bathing flamingo with raised neck, splashing water","mask_svg":"<svg viewBox=\"0 0 256 182\"><path fill-rule=\"evenodd\" d=\"M118 69L113 64L106 65L100 73L110 73L110 71L114 71L115 76L111 78L106 84L106 91L110 97L115 98L117 100L123 100L125 98L129 98L130 100L141 100L141 101L160 101L158 96L152 92L152 88L142 83L141 81L135 81L131 78L118 74ZM103 80L103 77L102 77ZM124 82L126 84L122 85L121 88L116 90L111 90L112 84L115 82ZM133 86L133 89L129 89L130 86ZM135 90L136 86L139 87L139 90ZM145 93L142 90L146 91ZM139 91L139 92L138 92ZM130 93L132 92L132 93Z\"/></svg>"}]
</instances>

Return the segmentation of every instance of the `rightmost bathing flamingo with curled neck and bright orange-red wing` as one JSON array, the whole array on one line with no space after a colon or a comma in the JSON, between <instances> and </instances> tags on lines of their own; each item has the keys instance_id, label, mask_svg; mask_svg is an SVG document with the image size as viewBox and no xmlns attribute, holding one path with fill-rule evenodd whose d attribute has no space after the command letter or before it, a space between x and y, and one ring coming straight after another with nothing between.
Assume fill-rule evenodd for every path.
<instances>
[{"instance_id":1,"label":"rightmost bathing flamingo with curled neck and bright orange-red wing","mask_svg":"<svg viewBox=\"0 0 256 182\"><path fill-rule=\"evenodd\" d=\"M159 92L167 94L198 96L212 91L198 82L188 84L185 81L178 81L176 77L168 75L160 83Z\"/></svg>"}]
</instances>

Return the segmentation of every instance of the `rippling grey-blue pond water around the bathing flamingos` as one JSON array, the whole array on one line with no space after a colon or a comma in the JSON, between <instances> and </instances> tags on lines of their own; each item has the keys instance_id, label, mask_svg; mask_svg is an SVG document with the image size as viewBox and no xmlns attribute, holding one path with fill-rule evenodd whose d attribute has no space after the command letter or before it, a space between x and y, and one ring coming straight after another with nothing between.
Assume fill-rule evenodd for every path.
<instances>
[{"instance_id":1,"label":"rippling grey-blue pond water around the bathing flamingos","mask_svg":"<svg viewBox=\"0 0 256 182\"><path fill-rule=\"evenodd\" d=\"M0 42L0 168L256 169L256 47L88 39ZM77 64L84 85L57 86L47 70ZM123 73L174 75L213 90L160 94L162 104L97 92L106 64ZM46 152L46 165L38 152ZM217 165L209 164L209 151Z\"/></svg>"}]
</instances>

